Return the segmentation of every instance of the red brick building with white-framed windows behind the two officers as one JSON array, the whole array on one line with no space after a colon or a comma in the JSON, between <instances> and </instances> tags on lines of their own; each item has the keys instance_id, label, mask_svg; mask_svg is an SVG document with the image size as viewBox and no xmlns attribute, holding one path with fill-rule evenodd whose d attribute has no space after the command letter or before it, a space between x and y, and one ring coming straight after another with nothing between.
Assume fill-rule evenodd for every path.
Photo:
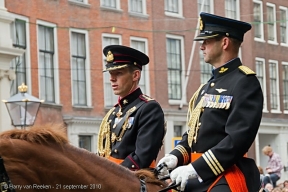
<instances>
[{"instance_id":1,"label":"red brick building with white-framed windows behind the two officers","mask_svg":"<svg viewBox=\"0 0 288 192\"><path fill-rule=\"evenodd\" d=\"M248 155L266 166L261 149L271 145L288 166L288 1L285 0L4 0L15 48L10 95L24 82L45 100L36 124L65 124L68 138L96 152L101 120L116 102L103 47L121 44L150 57L140 86L162 106L168 153L186 131L188 102L211 76L198 33L201 11L252 24L239 57L257 73L264 93L263 118ZM251 109L253 110L253 109ZM281 179L287 179L283 170Z\"/></svg>"}]
</instances>

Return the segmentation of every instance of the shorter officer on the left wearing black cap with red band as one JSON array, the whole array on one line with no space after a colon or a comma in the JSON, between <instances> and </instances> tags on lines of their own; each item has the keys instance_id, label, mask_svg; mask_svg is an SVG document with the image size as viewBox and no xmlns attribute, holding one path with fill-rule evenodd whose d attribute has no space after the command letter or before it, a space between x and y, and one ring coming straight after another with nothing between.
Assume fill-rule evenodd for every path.
<instances>
[{"instance_id":1,"label":"shorter officer on the left wearing black cap with red band","mask_svg":"<svg viewBox=\"0 0 288 192\"><path fill-rule=\"evenodd\" d=\"M131 170L155 168L165 126L159 103L139 87L144 53L121 45L103 49L118 103L106 114L98 135L98 154Z\"/></svg>"}]
</instances>

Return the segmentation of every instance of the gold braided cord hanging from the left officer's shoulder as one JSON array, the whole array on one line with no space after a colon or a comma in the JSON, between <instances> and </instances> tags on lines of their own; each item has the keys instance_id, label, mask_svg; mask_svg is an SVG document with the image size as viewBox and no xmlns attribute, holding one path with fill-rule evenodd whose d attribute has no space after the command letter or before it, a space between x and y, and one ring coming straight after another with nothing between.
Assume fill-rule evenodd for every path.
<instances>
[{"instance_id":1,"label":"gold braided cord hanging from the left officer's shoulder","mask_svg":"<svg viewBox=\"0 0 288 192\"><path fill-rule=\"evenodd\" d=\"M110 111L105 115L101 124L98 134L98 144L97 152L99 156L108 158L111 153L111 141L110 141L110 121L108 121L109 116L114 111L115 107L110 109ZM105 142L105 143L104 143Z\"/></svg>"}]
</instances>

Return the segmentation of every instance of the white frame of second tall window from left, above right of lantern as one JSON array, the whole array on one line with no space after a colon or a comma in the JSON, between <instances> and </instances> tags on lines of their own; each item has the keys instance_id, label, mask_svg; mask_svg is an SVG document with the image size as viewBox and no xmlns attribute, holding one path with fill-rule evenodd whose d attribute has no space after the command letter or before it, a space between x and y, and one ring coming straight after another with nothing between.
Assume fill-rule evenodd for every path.
<instances>
[{"instance_id":1,"label":"white frame of second tall window from left, above right of lantern","mask_svg":"<svg viewBox=\"0 0 288 192\"><path fill-rule=\"evenodd\" d=\"M44 25L47 27L52 27L53 28L53 35L54 35L54 57L53 57L53 64L54 64L54 91L55 91L55 104L60 104L60 92L59 92L59 63L58 63L58 36L57 36L57 25L54 23L50 23L50 22L46 22L46 21L42 21L42 20L37 20L36 21L37 24L37 57L38 57L38 61L39 61L39 27L38 25ZM39 79L39 98L41 96L41 82L40 82L40 74L41 74L41 67L39 66L39 62L38 62L38 79ZM40 98L43 99L43 98ZM44 100L45 102L45 100ZM49 103L50 104L50 103ZM53 104L53 103L51 103Z\"/></svg>"}]
</instances>

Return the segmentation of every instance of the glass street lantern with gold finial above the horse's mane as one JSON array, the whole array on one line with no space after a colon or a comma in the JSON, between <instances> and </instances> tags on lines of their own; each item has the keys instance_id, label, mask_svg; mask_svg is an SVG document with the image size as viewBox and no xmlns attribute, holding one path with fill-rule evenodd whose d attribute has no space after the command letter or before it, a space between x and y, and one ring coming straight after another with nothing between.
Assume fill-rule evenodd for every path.
<instances>
[{"instance_id":1,"label":"glass street lantern with gold finial above the horse's mane","mask_svg":"<svg viewBox=\"0 0 288 192\"><path fill-rule=\"evenodd\" d=\"M9 112L12 125L15 127L21 126L21 129L34 125L40 104L44 102L44 100L39 100L29 95L27 89L28 86L22 83L18 87L19 93L8 100L3 100Z\"/></svg>"}]
</instances>

